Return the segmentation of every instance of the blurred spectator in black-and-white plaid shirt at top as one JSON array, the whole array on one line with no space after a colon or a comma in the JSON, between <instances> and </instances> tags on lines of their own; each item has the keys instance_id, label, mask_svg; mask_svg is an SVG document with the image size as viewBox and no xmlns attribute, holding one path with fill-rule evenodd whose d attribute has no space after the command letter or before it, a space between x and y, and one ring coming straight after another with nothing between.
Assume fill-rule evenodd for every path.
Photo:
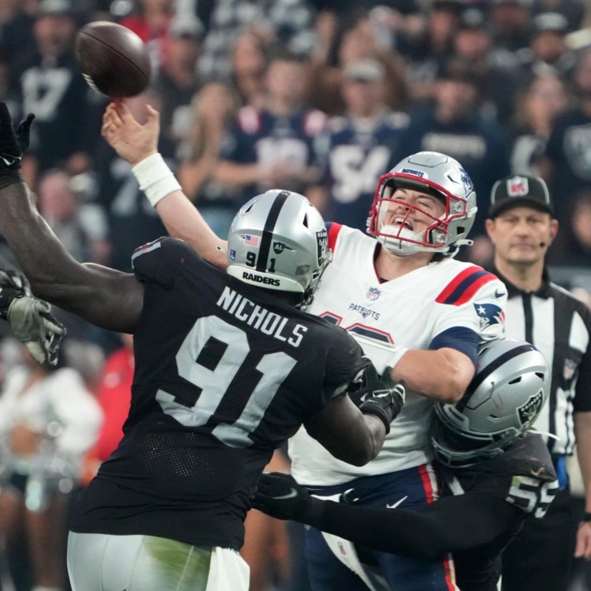
<instances>
[{"instance_id":1,"label":"blurred spectator in black-and-white plaid shirt at top","mask_svg":"<svg viewBox=\"0 0 591 591\"><path fill-rule=\"evenodd\" d=\"M206 78L229 79L230 52L243 31L255 31L268 44L297 54L313 50L313 9L306 0L217 0L199 71Z\"/></svg>"}]
</instances>

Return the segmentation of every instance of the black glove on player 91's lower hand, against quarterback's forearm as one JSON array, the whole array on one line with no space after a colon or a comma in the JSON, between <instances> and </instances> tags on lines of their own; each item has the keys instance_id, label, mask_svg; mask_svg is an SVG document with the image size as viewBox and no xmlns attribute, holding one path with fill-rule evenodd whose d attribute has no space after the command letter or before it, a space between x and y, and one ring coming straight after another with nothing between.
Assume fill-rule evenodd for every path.
<instances>
[{"instance_id":1,"label":"black glove on player 91's lower hand, against quarterback's forearm","mask_svg":"<svg viewBox=\"0 0 591 591\"><path fill-rule=\"evenodd\" d=\"M402 382L396 384L390 378L392 368L386 368L380 376L373 364L365 370L365 384L349 392L349 397L363 414L374 414L390 432L390 423L404 405L406 391Z\"/></svg>"}]
</instances>

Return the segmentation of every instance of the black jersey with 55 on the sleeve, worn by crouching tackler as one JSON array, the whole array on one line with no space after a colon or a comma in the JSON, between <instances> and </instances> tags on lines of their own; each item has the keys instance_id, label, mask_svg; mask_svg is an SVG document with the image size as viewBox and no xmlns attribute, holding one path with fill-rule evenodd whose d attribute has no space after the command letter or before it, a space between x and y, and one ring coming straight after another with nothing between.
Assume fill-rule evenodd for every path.
<instances>
[{"instance_id":1,"label":"black jersey with 55 on the sleeve, worn by crouching tackler","mask_svg":"<svg viewBox=\"0 0 591 591\"><path fill-rule=\"evenodd\" d=\"M454 554L457 583L462 591L493 591L500 573L500 554L521 529L528 515L541 518L558 491L558 480L542 436L528 434L504 453L487 462L454 469L469 502L486 505L488 499L515 508L505 530L473 550ZM469 498L466 496L466 499Z\"/></svg>"}]
</instances>

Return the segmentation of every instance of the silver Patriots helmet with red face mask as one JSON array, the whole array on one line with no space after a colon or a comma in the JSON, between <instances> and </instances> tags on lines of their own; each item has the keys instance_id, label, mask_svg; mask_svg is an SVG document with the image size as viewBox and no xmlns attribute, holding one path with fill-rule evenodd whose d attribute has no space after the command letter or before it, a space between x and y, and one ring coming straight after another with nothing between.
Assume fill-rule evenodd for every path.
<instances>
[{"instance_id":1,"label":"silver Patriots helmet with red face mask","mask_svg":"<svg viewBox=\"0 0 591 591\"><path fill-rule=\"evenodd\" d=\"M397 198L395 190L399 187L437 197L445 204L445 213L435 217L420 206ZM430 225L419 233L405 223L385 225L384 218L392 203L408 208L404 222L415 210L430 218ZM466 236L474 223L476 210L474 186L457 160L440 152L417 152L401 160L379 179L369 212L368 233L396 255L430 251L454 256L459 246L472 243Z\"/></svg>"}]
</instances>

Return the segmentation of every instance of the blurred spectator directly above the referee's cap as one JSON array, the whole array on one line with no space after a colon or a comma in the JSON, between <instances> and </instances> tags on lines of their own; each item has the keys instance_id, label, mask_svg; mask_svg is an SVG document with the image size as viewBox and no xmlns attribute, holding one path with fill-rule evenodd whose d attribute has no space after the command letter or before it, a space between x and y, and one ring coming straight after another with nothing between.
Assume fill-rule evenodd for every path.
<instances>
[{"instance_id":1,"label":"blurred spectator directly above the referee's cap","mask_svg":"<svg viewBox=\"0 0 591 591\"><path fill-rule=\"evenodd\" d=\"M569 105L564 83L556 76L530 80L519 93L514 120L511 172L539 174L538 161L544 153L554 118Z\"/></svg>"}]
</instances>

